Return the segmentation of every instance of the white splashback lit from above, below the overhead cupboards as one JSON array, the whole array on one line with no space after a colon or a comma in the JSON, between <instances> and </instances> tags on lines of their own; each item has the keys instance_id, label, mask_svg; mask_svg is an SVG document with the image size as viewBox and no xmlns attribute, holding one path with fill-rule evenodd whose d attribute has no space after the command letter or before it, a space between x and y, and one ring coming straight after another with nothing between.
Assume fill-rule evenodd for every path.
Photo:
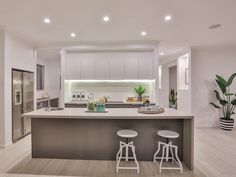
<instances>
[{"instance_id":1,"label":"white splashback lit from above, below the overhead cupboards","mask_svg":"<svg viewBox=\"0 0 236 177\"><path fill-rule=\"evenodd\" d=\"M121 101L129 96L137 96L134 87L138 85L143 85L146 88L144 95L156 102L155 80L66 80L65 103L72 101L72 93L75 91L94 93L95 99L109 96L110 101Z\"/></svg>"}]
</instances>

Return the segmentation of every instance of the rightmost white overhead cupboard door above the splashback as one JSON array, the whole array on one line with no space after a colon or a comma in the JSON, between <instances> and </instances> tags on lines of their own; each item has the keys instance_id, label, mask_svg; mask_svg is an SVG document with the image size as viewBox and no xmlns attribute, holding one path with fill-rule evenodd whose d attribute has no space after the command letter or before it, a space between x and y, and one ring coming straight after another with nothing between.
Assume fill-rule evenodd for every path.
<instances>
[{"instance_id":1,"label":"rightmost white overhead cupboard door above the splashback","mask_svg":"<svg viewBox=\"0 0 236 177\"><path fill-rule=\"evenodd\" d=\"M153 54L143 53L139 58L139 79L153 78Z\"/></svg>"}]
</instances>

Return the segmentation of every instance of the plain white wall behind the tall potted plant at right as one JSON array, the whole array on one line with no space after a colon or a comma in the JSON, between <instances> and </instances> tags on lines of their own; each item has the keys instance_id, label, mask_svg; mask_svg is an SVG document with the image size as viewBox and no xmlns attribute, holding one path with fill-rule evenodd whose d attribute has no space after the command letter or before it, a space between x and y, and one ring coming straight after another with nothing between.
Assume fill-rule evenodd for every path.
<instances>
[{"instance_id":1,"label":"plain white wall behind the tall potted plant at right","mask_svg":"<svg viewBox=\"0 0 236 177\"><path fill-rule=\"evenodd\" d=\"M221 113L209 105L215 100L215 75L236 72L236 46L192 48L192 112L197 127L216 127ZM236 79L232 91L236 92Z\"/></svg>"}]
</instances>

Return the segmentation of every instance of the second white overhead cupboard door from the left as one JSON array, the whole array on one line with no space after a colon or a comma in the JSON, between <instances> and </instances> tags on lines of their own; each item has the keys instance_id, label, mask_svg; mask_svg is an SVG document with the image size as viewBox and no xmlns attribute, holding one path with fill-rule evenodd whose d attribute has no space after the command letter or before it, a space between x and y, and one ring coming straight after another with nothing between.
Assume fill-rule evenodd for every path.
<instances>
[{"instance_id":1,"label":"second white overhead cupboard door from the left","mask_svg":"<svg viewBox=\"0 0 236 177\"><path fill-rule=\"evenodd\" d=\"M89 54L80 54L81 79L94 79L94 60Z\"/></svg>"}]
</instances>

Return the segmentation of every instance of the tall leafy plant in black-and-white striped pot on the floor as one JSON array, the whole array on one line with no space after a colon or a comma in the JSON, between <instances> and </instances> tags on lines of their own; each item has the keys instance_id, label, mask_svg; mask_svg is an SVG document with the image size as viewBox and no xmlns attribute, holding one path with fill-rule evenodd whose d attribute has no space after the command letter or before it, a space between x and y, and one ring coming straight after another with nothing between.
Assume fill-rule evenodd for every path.
<instances>
[{"instance_id":1,"label":"tall leafy plant in black-and-white striped pot on the floor","mask_svg":"<svg viewBox=\"0 0 236 177\"><path fill-rule=\"evenodd\" d=\"M228 131L234 128L234 119L232 119L232 115L235 114L236 93L231 92L230 86L235 77L236 73L232 74L226 81L223 77L216 75L216 83L220 92L214 90L217 103L210 103L216 109L220 109L222 111L223 117L220 118L220 128Z\"/></svg>"}]
</instances>

